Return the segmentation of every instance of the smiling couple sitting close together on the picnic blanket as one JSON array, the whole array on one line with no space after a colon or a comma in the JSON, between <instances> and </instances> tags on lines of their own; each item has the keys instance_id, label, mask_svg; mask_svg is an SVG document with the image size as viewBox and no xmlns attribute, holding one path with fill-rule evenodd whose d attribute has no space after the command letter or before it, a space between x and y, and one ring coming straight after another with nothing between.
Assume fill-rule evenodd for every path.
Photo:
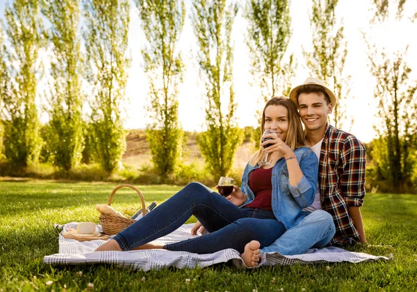
<instances>
[{"instance_id":1,"label":"smiling couple sitting close together on the picnic blanket","mask_svg":"<svg viewBox=\"0 0 417 292\"><path fill-rule=\"evenodd\" d=\"M336 98L324 83L307 78L290 99L274 97L262 114L262 131L277 136L261 144L242 178L226 198L191 182L147 216L97 248L163 248L199 254L234 248L246 266L259 264L261 252L297 255L329 243L365 243L359 207L365 196L365 148L327 123ZM298 108L298 112L297 112ZM302 123L305 132L302 130ZM263 148L266 144L272 144ZM260 167L265 153L270 165ZM191 215L209 233L156 246L150 241L173 232Z\"/></svg>"}]
</instances>

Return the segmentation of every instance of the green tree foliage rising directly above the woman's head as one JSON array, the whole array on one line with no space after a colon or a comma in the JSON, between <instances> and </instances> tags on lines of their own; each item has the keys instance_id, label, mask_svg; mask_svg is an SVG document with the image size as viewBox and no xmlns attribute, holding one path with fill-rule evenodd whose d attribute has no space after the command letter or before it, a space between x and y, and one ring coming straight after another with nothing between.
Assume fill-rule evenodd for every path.
<instances>
[{"instance_id":1,"label":"green tree foliage rising directly above the woman's head","mask_svg":"<svg viewBox=\"0 0 417 292\"><path fill-rule=\"evenodd\" d=\"M273 96L288 96L291 80L295 77L293 55L284 62L291 38L289 2L248 0L245 8L251 71L261 89L262 103Z\"/></svg>"}]
</instances>

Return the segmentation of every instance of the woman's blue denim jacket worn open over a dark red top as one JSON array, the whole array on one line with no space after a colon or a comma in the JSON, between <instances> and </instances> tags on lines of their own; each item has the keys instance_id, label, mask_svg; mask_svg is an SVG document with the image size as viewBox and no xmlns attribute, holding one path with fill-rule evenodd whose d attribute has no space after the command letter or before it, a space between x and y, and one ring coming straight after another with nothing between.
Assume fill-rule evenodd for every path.
<instances>
[{"instance_id":1,"label":"woman's blue denim jacket worn open over a dark red top","mask_svg":"<svg viewBox=\"0 0 417 292\"><path fill-rule=\"evenodd\" d=\"M313 203L317 189L318 160L316 154L308 147L295 149L300 169L304 174L295 187L290 185L286 160L281 158L272 169L272 211L275 217L284 224L288 230L294 227L306 216L302 208ZM254 193L249 187L249 178L259 166L248 163L242 177L240 190L247 196L246 202L240 207L254 200Z\"/></svg>"}]
</instances>

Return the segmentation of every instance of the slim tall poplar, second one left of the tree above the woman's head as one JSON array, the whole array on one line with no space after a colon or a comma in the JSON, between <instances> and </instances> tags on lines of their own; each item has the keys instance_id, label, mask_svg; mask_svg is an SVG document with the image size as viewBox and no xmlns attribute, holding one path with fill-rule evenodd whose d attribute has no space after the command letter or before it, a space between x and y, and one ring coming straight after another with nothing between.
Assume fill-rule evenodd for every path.
<instances>
[{"instance_id":1,"label":"slim tall poplar, second one left of the tree above the woman's head","mask_svg":"<svg viewBox=\"0 0 417 292\"><path fill-rule=\"evenodd\" d=\"M158 173L166 178L181 153L183 130L178 120L178 85L183 80L183 60L177 49L186 17L183 0L136 0L142 28L149 43L142 50L149 80L147 140Z\"/></svg>"}]
</instances>

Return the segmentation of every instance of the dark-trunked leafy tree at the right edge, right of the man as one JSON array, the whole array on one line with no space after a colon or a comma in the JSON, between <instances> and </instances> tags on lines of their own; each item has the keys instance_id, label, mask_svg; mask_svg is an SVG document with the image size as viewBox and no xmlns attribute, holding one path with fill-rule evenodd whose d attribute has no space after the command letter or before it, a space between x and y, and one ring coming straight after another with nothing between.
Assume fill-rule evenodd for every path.
<instances>
[{"instance_id":1,"label":"dark-trunked leafy tree at the right edge, right of the man","mask_svg":"<svg viewBox=\"0 0 417 292\"><path fill-rule=\"evenodd\" d=\"M373 161L382 180L391 182L393 191L414 187L412 178L417 166L417 85L411 80L411 68L404 62L407 53L379 53L369 46L370 71L377 86L379 101L379 138L373 141Z\"/></svg>"}]
</instances>

